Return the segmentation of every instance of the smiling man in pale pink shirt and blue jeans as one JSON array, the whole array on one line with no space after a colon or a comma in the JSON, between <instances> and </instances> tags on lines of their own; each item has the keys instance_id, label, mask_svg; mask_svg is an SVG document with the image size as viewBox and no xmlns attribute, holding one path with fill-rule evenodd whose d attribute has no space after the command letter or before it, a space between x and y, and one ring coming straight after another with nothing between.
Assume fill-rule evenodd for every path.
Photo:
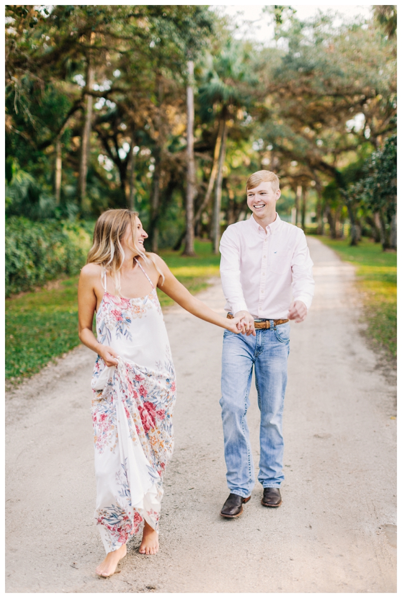
<instances>
[{"instance_id":1,"label":"smiling man in pale pink shirt and blue jeans","mask_svg":"<svg viewBox=\"0 0 402 598\"><path fill-rule=\"evenodd\" d=\"M276 213L281 196L278 176L269 170L255 172L248 178L246 193L251 218L227 227L220 244L227 317L242 316L237 327L245 331L225 331L223 338L220 405L230 495L221 515L230 518L242 514L255 483L246 421L253 366L261 411L261 504L279 507L282 502L289 320L303 322L314 289L303 230Z\"/></svg>"}]
</instances>

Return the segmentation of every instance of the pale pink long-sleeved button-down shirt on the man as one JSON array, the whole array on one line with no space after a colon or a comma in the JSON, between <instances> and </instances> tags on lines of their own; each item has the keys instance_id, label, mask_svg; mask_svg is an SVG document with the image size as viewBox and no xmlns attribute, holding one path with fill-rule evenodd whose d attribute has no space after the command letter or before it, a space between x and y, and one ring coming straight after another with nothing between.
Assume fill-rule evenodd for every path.
<instances>
[{"instance_id":1,"label":"pale pink long-sleeved button-down shirt on the man","mask_svg":"<svg viewBox=\"0 0 402 598\"><path fill-rule=\"evenodd\" d=\"M227 312L287 318L292 294L309 309L314 280L306 237L278 213L266 230L253 216L231 224L222 235L220 252Z\"/></svg>"}]
</instances>

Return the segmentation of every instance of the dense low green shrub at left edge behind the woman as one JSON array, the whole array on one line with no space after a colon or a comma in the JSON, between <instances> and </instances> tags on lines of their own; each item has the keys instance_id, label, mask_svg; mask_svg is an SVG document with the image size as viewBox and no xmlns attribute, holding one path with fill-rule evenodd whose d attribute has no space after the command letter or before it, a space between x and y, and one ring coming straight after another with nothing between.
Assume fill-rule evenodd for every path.
<instances>
[{"instance_id":1,"label":"dense low green shrub at left edge behind the woman","mask_svg":"<svg viewBox=\"0 0 402 598\"><path fill-rule=\"evenodd\" d=\"M77 274L92 243L87 228L79 222L7 218L5 296L31 291L62 274Z\"/></svg>"}]
</instances>

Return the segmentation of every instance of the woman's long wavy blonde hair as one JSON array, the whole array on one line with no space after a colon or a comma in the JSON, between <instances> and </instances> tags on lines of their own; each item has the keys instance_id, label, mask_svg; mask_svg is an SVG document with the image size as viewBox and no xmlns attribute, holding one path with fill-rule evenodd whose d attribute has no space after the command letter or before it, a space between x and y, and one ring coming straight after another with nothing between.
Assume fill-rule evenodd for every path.
<instances>
[{"instance_id":1,"label":"woman's long wavy blonde hair","mask_svg":"<svg viewBox=\"0 0 402 598\"><path fill-rule=\"evenodd\" d=\"M105 271L111 276L117 295L120 295L120 270L124 261L121 239L126 234L127 226L130 226L132 231L129 248L135 252L136 256L142 257L145 263L152 261L165 282L165 276L157 267L153 254L142 251L136 244L136 216L138 216L138 212L127 209L106 210L99 216L93 231L93 245L88 252L87 264L102 266L101 276Z\"/></svg>"}]
</instances>

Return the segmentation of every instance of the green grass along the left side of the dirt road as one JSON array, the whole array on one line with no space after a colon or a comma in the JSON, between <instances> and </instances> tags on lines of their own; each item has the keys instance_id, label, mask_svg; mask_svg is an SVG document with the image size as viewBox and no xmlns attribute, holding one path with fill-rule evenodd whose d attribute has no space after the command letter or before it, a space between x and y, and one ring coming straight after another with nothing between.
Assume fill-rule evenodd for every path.
<instances>
[{"instance_id":1,"label":"green grass along the left side of the dirt road","mask_svg":"<svg viewBox=\"0 0 402 598\"><path fill-rule=\"evenodd\" d=\"M161 255L173 274L190 292L208 286L211 276L219 274L220 256L211 253L211 243L196 242L197 257L182 257L179 252ZM56 288L29 292L5 301L5 377L18 381L32 376L51 359L80 343L77 324L78 276L59 280ZM173 303L159 291L162 306Z\"/></svg>"}]
</instances>

